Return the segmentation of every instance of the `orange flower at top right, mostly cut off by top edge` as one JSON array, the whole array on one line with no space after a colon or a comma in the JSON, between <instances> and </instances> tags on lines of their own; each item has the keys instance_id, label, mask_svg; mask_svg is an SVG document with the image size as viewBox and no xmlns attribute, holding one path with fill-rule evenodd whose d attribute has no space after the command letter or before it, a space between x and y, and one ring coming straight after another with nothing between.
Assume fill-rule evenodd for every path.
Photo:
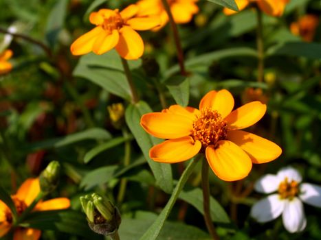
<instances>
[{"instance_id":1,"label":"orange flower at top right, mostly cut off by top edge","mask_svg":"<svg viewBox=\"0 0 321 240\"><path fill-rule=\"evenodd\" d=\"M282 16L285 5L287 5L289 1L290 0L235 0L235 3L240 11L246 8L250 3L257 3L258 8L260 8L266 14L271 16ZM226 15L237 13L229 8L224 8L223 12Z\"/></svg>"}]
</instances>

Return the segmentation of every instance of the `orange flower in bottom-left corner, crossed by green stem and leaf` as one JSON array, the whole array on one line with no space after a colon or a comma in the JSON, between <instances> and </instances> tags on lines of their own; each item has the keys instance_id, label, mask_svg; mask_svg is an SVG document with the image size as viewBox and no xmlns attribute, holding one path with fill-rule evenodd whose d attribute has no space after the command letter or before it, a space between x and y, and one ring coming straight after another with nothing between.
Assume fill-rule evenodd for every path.
<instances>
[{"instance_id":1,"label":"orange flower in bottom-left corner, crossed by green stem and leaf","mask_svg":"<svg viewBox=\"0 0 321 240\"><path fill-rule=\"evenodd\" d=\"M40 193L38 178L28 178L21 184L16 194L12 195L12 201L16 206L16 212L21 215L25 209L32 204ZM48 211L69 208L70 201L65 197L54 198L44 202L38 202L34 211ZM0 237L9 232L12 227L12 213L10 208L0 200ZM37 240L41 235L41 230L33 228L16 228L14 230L14 240L30 239Z\"/></svg>"}]
</instances>

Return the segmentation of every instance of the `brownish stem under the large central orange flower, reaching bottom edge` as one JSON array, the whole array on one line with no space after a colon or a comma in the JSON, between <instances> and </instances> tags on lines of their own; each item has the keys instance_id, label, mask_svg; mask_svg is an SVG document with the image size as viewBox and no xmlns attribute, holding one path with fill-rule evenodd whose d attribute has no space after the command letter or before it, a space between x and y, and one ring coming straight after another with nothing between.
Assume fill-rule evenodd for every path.
<instances>
[{"instance_id":1,"label":"brownish stem under the large central orange flower, reaching bottom edge","mask_svg":"<svg viewBox=\"0 0 321 240\"><path fill-rule=\"evenodd\" d=\"M206 159L203 159L202 164L201 185L203 189L203 209L206 227L208 228L208 232L210 232L212 239L218 240L219 235L217 235L217 231L215 230L212 219L210 217L210 183L208 181L208 162Z\"/></svg>"}]
</instances>

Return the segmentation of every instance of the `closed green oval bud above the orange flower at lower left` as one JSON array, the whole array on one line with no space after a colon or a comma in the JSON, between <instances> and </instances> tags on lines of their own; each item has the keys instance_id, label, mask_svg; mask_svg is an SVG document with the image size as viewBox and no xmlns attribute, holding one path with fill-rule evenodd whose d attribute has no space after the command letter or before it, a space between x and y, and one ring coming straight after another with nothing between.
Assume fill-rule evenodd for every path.
<instances>
[{"instance_id":1,"label":"closed green oval bud above the orange flower at lower left","mask_svg":"<svg viewBox=\"0 0 321 240\"><path fill-rule=\"evenodd\" d=\"M60 164L52 161L39 176L40 189L43 193L50 193L56 189L59 182Z\"/></svg>"}]
</instances>

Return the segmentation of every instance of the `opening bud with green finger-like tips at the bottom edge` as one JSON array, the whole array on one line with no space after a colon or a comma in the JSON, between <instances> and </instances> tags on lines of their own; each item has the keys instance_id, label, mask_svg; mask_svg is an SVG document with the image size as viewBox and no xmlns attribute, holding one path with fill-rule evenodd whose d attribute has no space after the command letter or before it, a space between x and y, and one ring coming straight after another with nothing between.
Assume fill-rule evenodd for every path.
<instances>
[{"instance_id":1,"label":"opening bud with green finger-like tips at the bottom edge","mask_svg":"<svg viewBox=\"0 0 321 240\"><path fill-rule=\"evenodd\" d=\"M87 215L91 230L104 236L113 235L118 230L122 219L118 208L113 206L109 200L92 193L80 197L80 203Z\"/></svg>"}]
</instances>

